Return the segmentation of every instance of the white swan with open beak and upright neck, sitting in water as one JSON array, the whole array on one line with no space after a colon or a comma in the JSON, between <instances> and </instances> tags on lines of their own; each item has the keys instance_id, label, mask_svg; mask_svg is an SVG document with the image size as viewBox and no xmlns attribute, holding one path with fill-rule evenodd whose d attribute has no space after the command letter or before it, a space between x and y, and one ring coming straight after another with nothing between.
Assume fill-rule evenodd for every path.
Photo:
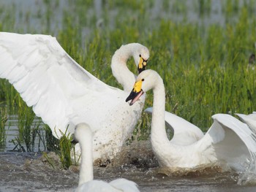
<instances>
[{"instance_id":1,"label":"white swan with open beak and upright neck, sitting in water","mask_svg":"<svg viewBox=\"0 0 256 192\"><path fill-rule=\"evenodd\" d=\"M165 131L165 88L157 72L141 72L127 101L132 99L130 105L134 104L150 89L154 93L151 145L160 166L170 169L196 168L224 163L240 171L246 169L249 163L255 164L255 134L245 123L230 115L213 115L214 123L211 128L191 145L170 142Z\"/></svg>"}]
</instances>

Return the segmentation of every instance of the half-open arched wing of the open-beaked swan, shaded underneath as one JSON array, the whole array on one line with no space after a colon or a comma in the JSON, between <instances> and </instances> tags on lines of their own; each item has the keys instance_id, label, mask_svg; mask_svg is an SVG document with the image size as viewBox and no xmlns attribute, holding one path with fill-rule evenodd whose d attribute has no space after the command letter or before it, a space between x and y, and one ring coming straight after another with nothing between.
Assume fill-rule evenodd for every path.
<instances>
[{"instance_id":1,"label":"half-open arched wing of the open-beaked swan, shaded underneath","mask_svg":"<svg viewBox=\"0 0 256 192\"><path fill-rule=\"evenodd\" d=\"M256 135L240 120L227 114L213 115L214 123L198 144L200 147L213 146L217 159L225 161L234 169L255 167ZM248 163L245 164L245 163Z\"/></svg>"}]
</instances>

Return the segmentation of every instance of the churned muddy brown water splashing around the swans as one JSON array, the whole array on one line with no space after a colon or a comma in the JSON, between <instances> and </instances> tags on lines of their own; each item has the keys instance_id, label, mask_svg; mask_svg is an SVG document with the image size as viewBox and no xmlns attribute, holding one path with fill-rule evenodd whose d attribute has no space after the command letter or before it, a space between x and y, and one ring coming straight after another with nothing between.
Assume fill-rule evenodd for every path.
<instances>
[{"instance_id":1,"label":"churned muddy brown water splashing around the swans","mask_svg":"<svg viewBox=\"0 0 256 192\"><path fill-rule=\"evenodd\" d=\"M48 153L0 153L0 191L75 191L79 167L60 169L59 158ZM138 183L140 191L256 191L256 185L238 185L238 174L204 169L167 177L158 169L149 142L124 147L107 167L94 166L94 179L110 181L124 177Z\"/></svg>"}]
</instances>

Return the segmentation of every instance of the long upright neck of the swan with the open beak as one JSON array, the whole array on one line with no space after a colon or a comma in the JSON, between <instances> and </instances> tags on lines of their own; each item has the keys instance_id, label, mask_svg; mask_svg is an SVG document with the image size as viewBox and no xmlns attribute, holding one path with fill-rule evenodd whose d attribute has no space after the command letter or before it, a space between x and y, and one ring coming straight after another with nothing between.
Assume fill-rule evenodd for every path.
<instances>
[{"instance_id":1,"label":"long upright neck of the swan with the open beak","mask_svg":"<svg viewBox=\"0 0 256 192\"><path fill-rule=\"evenodd\" d=\"M153 89L154 101L151 121L151 145L155 155L162 153L163 148L170 147L170 141L165 131L165 87L161 80ZM163 147L165 146L165 147ZM157 154L157 152L159 154Z\"/></svg>"}]
</instances>

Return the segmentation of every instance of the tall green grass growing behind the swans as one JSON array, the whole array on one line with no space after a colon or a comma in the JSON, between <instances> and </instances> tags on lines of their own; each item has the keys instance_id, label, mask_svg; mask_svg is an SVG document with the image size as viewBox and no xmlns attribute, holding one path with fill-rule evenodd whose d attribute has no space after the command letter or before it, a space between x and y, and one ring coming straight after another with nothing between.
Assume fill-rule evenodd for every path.
<instances>
[{"instance_id":1,"label":"tall green grass growing behind the swans","mask_svg":"<svg viewBox=\"0 0 256 192\"><path fill-rule=\"evenodd\" d=\"M186 7L185 1L163 1L157 15L153 0L102 1L101 25L97 25L94 4L82 0L69 1L61 25L57 25L58 2L44 1L47 11L40 9L37 14L15 6L1 8L0 29L52 34L87 71L118 88L110 69L111 57L121 45L140 42L151 53L148 68L159 72L165 82L166 110L204 131L211 126L211 115L248 114L256 109L256 69L248 68L249 55L256 52L254 1L241 1L241 6L238 1L222 1L223 23L203 22L210 16L211 1L192 1L191 7ZM200 20L189 22L191 9ZM11 12L20 12L23 22L18 23ZM33 18L41 28L34 27ZM135 72L132 59L128 65ZM18 93L5 80L0 81L0 99L9 112L17 109ZM151 107L152 101L152 93L148 93L145 108ZM26 110L22 105L22 111ZM150 121L150 116L143 114L133 138L148 139Z\"/></svg>"}]
</instances>

